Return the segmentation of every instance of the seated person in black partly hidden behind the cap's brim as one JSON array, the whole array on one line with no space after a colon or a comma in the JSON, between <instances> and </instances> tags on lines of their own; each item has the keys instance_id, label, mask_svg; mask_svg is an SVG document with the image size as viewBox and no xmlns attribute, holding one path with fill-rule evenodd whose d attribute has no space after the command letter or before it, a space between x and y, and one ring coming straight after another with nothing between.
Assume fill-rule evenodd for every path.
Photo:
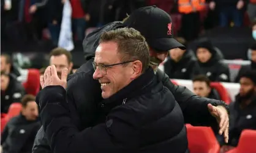
<instances>
[{"instance_id":1,"label":"seated person in black partly hidden behind the cap's brim","mask_svg":"<svg viewBox=\"0 0 256 153\"><path fill-rule=\"evenodd\" d=\"M177 40L181 44L186 43L183 38ZM169 54L167 62L164 63L164 71L170 79L189 80L200 74L197 58L192 51L174 48L170 49Z\"/></svg>"}]
</instances>

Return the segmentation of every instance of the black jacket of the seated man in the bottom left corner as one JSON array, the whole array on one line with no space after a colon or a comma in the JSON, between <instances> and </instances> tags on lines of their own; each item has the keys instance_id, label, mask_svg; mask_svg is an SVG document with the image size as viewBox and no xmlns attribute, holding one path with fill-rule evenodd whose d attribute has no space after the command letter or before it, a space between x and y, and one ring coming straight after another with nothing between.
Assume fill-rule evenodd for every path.
<instances>
[{"instance_id":1,"label":"black jacket of the seated man in the bottom left corner","mask_svg":"<svg viewBox=\"0 0 256 153\"><path fill-rule=\"evenodd\" d=\"M6 153L31 152L40 122L28 121L23 115L15 116L7 123L2 132L1 145Z\"/></svg>"}]
</instances>

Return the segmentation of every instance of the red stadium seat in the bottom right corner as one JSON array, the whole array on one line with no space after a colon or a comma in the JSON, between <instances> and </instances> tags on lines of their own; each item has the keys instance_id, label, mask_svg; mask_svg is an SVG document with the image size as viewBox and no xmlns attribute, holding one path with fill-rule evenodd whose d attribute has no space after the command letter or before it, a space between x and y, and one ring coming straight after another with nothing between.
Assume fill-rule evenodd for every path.
<instances>
[{"instance_id":1,"label":"red stadium seat in the bottom right corner","mask_svg":"<svg viewBox=\"0 0 256 153\"><path fill-rule=\"evenodd\" d=\"M256 130L243 130L238 146L227 153L255 153Z\"/></svg>"}]
</instances>

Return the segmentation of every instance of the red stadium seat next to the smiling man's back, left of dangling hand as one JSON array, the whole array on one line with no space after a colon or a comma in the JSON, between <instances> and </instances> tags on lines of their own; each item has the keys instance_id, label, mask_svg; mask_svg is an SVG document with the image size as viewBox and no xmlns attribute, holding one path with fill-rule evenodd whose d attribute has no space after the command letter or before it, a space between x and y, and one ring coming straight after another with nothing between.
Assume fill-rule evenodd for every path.
<instances>
[{"instance_id":1,"label":"red stadium seat next to the smiling man's back, left of dangling hand","mask_svg":"<svg viewBox=\"0 0 256 153\"><path fill-rule=\"evenodd\" d=\"M211 127L186 127L190 153L219 153L220 146Z\"/></svg>"}]
</instances>

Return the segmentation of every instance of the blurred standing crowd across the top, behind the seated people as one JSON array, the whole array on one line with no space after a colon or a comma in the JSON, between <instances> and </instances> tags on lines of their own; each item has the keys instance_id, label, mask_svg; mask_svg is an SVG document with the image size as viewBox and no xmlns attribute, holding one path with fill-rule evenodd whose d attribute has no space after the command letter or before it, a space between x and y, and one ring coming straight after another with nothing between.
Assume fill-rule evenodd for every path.
<instances>
[{"instance_id":1,"label":"blurred standing crowd across the top, behind the seated people","mask_svg":"<svg viewBox=\"0 0 256 153\"><path fill-rule=\"evenodd\" d=\"M1 40L15 45L35 43L51 38L58 45L62 10L66 0L1 0ZM176 20L175 35L194 40L204 30L216 26L249 26L255 20L254 0L195 1L189 8L187 0L70 0L73 39L82 41L89 27L100 27L111 21L121 21L130 12L145 5L157 5ZM47 29L47 30L45 30Z\"/></svg>"}]
</instances>

